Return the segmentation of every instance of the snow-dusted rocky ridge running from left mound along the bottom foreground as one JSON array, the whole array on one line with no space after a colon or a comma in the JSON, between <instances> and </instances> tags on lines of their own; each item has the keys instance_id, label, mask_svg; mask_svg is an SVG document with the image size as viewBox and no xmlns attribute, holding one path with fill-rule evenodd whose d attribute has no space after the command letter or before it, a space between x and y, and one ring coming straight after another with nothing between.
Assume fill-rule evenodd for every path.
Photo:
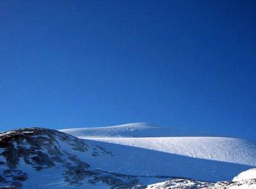
<instances>
[{"instance_id":1,"label":"snow-dusted rocky ridge running from left mound along the bottom foreground","mask_svg":"<svg viewBox=\"0 0 256 189\"><path fill-rule=\"evenodd\" d=\"M58 174L63 187L70 188L102 188L103 184L105 188L218 189L255 184L255 179L214 184L166 176L116 174L92 167L77 153L90 158L113 156L102 146L86 144L86 140L56 130L24 128L0 133L0 188L28 188L31 174L40 178L44 170L50 169ZM146 180L152 183L152 179L156 184L148 185Z\"/></svg>"}]
</instances>

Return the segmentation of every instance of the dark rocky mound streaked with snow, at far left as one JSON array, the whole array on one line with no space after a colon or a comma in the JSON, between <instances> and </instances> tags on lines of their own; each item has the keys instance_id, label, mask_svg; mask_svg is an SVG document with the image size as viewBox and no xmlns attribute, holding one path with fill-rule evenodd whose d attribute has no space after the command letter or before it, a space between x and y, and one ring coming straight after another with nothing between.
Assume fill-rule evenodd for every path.
<instances>
[{"instance_id":1,"label":"dark rocky mound streaked with snow, at far left","mask_svg":"<svg viewBox=\"0 0 256 189\"><path fill-rule=\"evenodd\" d=\"M69 153L72 150L84 153L88 151L84 140L56 130L25 128L0 133L0 149L0 160L4 160L0 162L1 187L22 187L22 182L28 179L26 170L19 169L22 163L38 172L61 165L64 168L63 179L68 185L81 185L80 181L86 177L99 177L99 173L90 170L90 165ZM91 155L95 153L99 156L112 155L99 146L93 147Z\"/></svg>"}]
</instances>

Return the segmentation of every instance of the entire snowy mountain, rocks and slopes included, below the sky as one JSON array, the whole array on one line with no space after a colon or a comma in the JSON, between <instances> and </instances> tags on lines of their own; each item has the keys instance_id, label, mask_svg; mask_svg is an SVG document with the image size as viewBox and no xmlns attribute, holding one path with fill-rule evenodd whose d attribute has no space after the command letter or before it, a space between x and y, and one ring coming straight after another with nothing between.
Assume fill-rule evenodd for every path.
<instances>
[{"instance_id":1,"label":"entire snowy mountain, rocks and slopes included, below the sky","mask_svg":"<svg viewBox=\"0 0 256 189\"><path fill-rule=\"evenodd\" d=\"M24 128L0 133L0 188L248 188L255 155L252 140L147 123Z\"/></svg>"}]
</instances>

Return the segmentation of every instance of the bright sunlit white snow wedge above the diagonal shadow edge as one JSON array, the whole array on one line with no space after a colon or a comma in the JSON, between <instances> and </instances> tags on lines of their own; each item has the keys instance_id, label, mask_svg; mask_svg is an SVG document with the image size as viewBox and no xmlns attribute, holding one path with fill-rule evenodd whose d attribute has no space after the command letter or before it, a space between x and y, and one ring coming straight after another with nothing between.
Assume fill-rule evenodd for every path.
<instances>
[{"instance_id":1,"label":"bright sunlit white snow wedge above the diagonal shadow edge","mask_svg":"<svg viewBox=\"0 0 256 189\"><path fill-rule=\"evenodd\" d=\"M256 142L227 137L93 138L173 155L256 166Z\"/></svg>"}]
</instances>

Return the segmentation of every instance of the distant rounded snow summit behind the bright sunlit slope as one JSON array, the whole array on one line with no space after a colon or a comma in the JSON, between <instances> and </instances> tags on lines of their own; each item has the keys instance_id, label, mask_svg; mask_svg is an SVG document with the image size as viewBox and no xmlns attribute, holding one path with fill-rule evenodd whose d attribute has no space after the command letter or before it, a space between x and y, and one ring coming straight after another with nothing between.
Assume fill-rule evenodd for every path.
<instances>
[{"instance_id":1,"label":"distant rounded snow summit behind the bright sunlit slope","mask_svg":"<svg viewBox=\"0 0 256 189\"><path fill-rule=\"evenodd\" d=\"M193 132L177 128L161 127L150 123L129 123L125 125L104 126L93 128L70 128L61 132L76 137L195 137L215 136L206 132Z\"/></svg>"}]
</instances>

